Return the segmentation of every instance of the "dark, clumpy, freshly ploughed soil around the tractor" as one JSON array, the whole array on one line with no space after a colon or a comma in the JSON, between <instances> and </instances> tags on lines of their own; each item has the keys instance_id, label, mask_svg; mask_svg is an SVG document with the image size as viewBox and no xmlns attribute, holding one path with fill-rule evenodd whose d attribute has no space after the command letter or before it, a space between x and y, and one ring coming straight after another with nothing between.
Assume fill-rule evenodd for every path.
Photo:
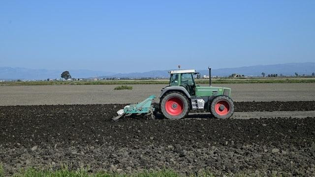
<instances>
[{"instance_id":1,"label":"dark, clumpy, freshly ploughed soil around the tractor","mask_svg":"<svg viewBox=\"0 0 315 177\"><path fill-rule=\"evenodd\" d=\"M259 104L252 109L266 111L274 104L255 103ZM246 104L237 103L237 111L248 111L240 107ZM314 110L314 102L307 105L312 104ZM196 119L196 115L184 120L112 122L123 106L0 107L0 162L7 174L21 167L60 168L66 163L74 169L89 165L92 171L169 168L219 175L247 171L315 175L315 118Z\"/></svg>"}]
</instances>

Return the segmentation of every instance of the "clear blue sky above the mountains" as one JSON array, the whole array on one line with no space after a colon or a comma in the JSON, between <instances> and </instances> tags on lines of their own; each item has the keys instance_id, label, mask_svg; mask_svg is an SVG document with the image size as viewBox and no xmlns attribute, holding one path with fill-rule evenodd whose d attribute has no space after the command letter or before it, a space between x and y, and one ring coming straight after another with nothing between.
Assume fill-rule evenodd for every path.
<instances>
[{"instance_id":1,"label":"clear blue sky above the mountains","mask_svg":"<svg viewBox=\"0 0 315 177\"><path fill-rule=\"evenodd\" d=\"M1 0L0 66L134 72L315 61L314 0Z\"/></svg>"}]
</instances>

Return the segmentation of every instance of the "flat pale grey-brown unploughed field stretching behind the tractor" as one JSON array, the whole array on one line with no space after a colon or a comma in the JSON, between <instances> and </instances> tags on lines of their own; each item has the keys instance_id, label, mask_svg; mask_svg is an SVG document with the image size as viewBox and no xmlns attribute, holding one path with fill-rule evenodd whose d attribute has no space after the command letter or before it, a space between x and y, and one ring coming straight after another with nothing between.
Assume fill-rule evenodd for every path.
<instances>
[{"instance_id":1,"label":"flat pale grey-brown unploughed field stretching behind the tractor","mask_svg":"<svg viewBox=\"0 0 315 177\"><path fill-rule=\"evenodd\" d=\"M56 104L112 104L140 102L159 95L166 85L131 85L132 90L114 90L117 85L0 86L0 106ZM315 83L220 84L232 89L234 101L314 101Z\"/></svg>"}]
</instances>

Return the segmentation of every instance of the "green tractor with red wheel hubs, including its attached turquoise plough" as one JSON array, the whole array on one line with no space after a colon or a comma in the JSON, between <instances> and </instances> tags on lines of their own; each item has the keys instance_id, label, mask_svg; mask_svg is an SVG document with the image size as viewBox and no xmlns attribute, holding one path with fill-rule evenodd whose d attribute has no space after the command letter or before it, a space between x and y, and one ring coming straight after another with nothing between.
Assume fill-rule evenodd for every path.
<instances>
[{"instance_id":1,"label":"green tractor with red wheel hubs, including its attached turquoise plough","mask_svg":"<svg viewBox=\"0 0 315 177\"><path fill-rule=\"evenodd\" d=\"M205 110L215 118L229 118L234 112L233 100L230 98L231 89L211 86L211 68L209 68L209 87L195 84L194 75L199 73L194 69L170 71L169 86L161 90L158 96L160 113L168 119L185 118L191 110ZM155 118L156 108L152 105L155 95L151 95L141 103L127 105L119 110L118 120L122 116L134 114L151 115Z\"/></svg>"}]
</instances>

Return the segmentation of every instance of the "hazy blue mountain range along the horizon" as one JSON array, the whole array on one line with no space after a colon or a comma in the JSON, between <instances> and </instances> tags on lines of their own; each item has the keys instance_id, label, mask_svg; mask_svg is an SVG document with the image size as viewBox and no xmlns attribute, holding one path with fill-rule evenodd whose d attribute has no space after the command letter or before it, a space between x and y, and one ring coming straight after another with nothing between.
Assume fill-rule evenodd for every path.
<instances>
[{"instance_id":1,"label":"hazy blue mountain range along the horizon","mask_svg":"<svg viewBox=\"0 0 315 177\"><path fill-rule=\"evenodd\" d=\"M193 69L193 67L191 67ZM68 70L73 78L168 78L169 70L154 70L149 72L134 72L134 73L114 73L106 71L93 70ZM196 70L202 75L209 75L208 69ZM48 70L48 69L28 69L21 67L0 67L0 80L43 80L43 79L59 79L62 70ZM270 65L254 65L243 66L235 68L220 68L212 69L212 76L229 76L232 73L237 73L246 76L260 76L264 72L268 74L283 74L293 76L294 73L299 75L311 75L315 72L315 62L304 63L284 63L284 64L270 64Z\"/></svg>"}]
</instances>

